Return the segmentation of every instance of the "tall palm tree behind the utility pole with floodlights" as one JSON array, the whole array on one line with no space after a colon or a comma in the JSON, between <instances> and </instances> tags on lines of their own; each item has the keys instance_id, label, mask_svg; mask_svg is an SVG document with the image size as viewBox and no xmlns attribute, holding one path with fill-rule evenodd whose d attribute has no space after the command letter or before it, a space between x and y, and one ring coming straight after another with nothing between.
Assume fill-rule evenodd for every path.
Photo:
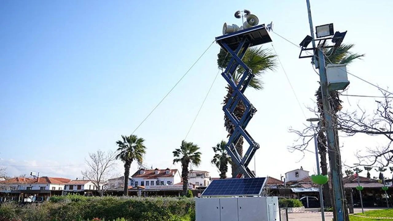
<instances>
[{"instance_id":1,"label":"tall palm tree behind the utility pole with floodlights","mask_svg":"<svg viewBox=\"0 0 393 221\"><path fill-rule=\"evenodd\" d=\"M364 57L364 54L357 54L357 53L352 53L351 49L354 47L354 44L342 44L339 47L336 48L336 50L332 51L333 48L330 49L325 49L324 54L325 54L325 64L351 64L354 60L357 58L362 58ZM332 108L333 112L333 124L337 121L337 112L342 109L342 100L340 100L338 96L337 91L330 91L329 92L331 99L330 105ZM319 86L318 90L315 93L316 99L317 99L317 106L318 106L318 112L320 113L320 119L321 119L321 127L318 129L318 152L321 157L321 171L322 174L326 175L328 173L327 170L327 158L326 158L326 153L327 153L327 138L325 134L325 130L323 128L325 127L325 116L323 115L323 104L322 104L322 93L321 93L321 86ZM338 144L338 133L337 130L335 130L335 138L336 138L336 143ZM341 168L340 168L341 171ZM332 195L329 190L329 184L323 185L323 195L325 196L331 196L325 198L325 205L326 206L331 206L331 199Z\"/></svg>"}]
</instances>

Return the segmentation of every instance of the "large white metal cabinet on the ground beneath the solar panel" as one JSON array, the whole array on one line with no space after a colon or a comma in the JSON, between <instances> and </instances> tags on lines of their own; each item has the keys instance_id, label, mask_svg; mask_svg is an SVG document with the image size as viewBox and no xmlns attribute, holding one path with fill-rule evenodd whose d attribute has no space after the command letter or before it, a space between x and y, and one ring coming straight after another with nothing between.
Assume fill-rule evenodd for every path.
<instances>
[{"instance_id":1,"label":"large white metal cabinet on the ground beneath the solar panel","mask_svg":"<svg viewBox=\"0 0 393 221\"><path fill-rule=\"evenodd\" d=\"M196 221L279 221L277 197L195 199Z\"/></svg>"}]
</instances>

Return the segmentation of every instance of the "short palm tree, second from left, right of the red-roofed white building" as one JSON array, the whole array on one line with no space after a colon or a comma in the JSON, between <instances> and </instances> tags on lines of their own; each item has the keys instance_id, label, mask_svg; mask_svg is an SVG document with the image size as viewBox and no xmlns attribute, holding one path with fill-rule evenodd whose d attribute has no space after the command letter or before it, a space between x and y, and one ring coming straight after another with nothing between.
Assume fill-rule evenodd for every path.
<instances>
[{"instance_id":1,"label":"short palm tree, second from left, right of the red-roofed white building","mask_svg":"<svg viewBox=\"0 0 393 221\"><path fill-rule=\"evenodd\" d=\"M182 163L182 180L183 180L183 195L187 194L188 186L188 167L190 165L199 166L201 152L198 152L199 147L192 142L182 141L182 146L175 149L173 156L173 163Z\"/></svg>"}]
</instances>

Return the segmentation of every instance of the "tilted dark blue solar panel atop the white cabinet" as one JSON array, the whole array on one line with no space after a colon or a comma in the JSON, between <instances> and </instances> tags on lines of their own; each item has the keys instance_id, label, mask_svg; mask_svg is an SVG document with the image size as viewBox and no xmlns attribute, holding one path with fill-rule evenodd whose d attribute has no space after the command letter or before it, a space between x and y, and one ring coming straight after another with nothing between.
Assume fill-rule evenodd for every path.
<instances>
[{"instance_id":1,"label":"tilted dark blue solar panel atop the white cabinet","mask_svg":"<svg viewBox=\"0 0 393 221\"><path fill-rule=\"evenodd\" d=\"M261 195L266 177L213 180L202 197Z\"/></svg>"}]
</instances>

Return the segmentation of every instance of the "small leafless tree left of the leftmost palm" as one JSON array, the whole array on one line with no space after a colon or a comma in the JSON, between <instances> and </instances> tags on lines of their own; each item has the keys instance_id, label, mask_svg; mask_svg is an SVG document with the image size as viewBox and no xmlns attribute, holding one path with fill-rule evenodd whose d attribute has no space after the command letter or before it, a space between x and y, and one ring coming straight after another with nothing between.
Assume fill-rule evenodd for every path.
<instances>
[{"instance_id":1,"label":"small leafless tree left of the leftmost palm","mask_svg":"<svg viewBox=\"0 0 393 221\"><path fill-rule=\"evenodd\" d=\"M113 152L103 152L97 150L95 153L89 153L89 158L85 159L85 163L88 168L85 171L81 171L82 175L88 180L92 181L98 193L102 196L105 189L100 188L100 184L107 179L107 176L111 169L115 165L115 158Z\"/></svg>"}]
</instances>

